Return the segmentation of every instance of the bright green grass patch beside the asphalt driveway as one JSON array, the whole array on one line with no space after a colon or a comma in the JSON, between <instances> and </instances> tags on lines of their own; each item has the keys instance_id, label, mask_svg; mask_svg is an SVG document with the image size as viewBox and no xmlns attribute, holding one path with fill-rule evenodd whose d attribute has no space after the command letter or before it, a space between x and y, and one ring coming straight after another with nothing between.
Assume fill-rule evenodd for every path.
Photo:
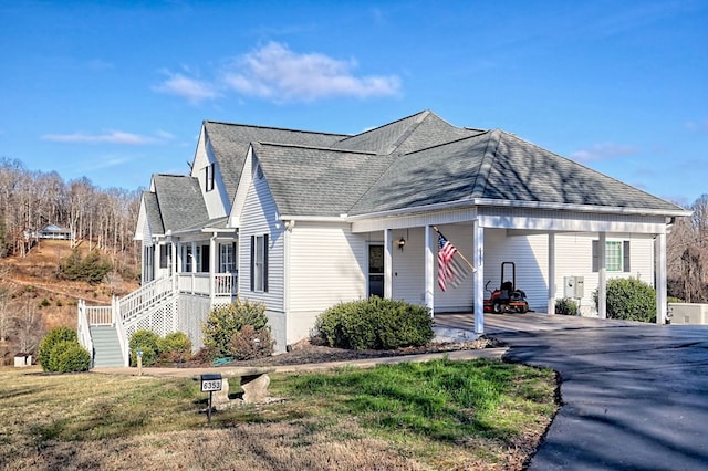
<instances>
[{"instance_id":1,"label":"bright green grass patch beside the asphalt driveway","mask_svg":"<svg viewBox=\"0 0 708 471\"><path fill-rule=\"evenodd\" d=\"M472 435L506 440L522 422L555 411L551 371L487 359L345 368L275 386L293 400L317 397L317 415L354 416L377 435L447 442Z\"/></svg>"}]
</instances>

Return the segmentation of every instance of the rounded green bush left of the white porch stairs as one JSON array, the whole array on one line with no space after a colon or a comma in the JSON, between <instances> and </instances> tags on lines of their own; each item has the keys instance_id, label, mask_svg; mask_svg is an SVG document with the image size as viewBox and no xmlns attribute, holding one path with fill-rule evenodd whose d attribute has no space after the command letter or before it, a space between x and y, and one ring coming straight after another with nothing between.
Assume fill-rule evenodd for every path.
<instances>
[{"instance_id":1,"label":"rounded green bush left of the white porch stairs","mask_svg":"<svg viewBox=\"0 0 708 471\"><path fill-rule=\"evenodd\" d=\"M91 367L91 354L69 327L54 328L42 339L38 360L48 373L87 371Z\"/></svg>"}]
</instances>

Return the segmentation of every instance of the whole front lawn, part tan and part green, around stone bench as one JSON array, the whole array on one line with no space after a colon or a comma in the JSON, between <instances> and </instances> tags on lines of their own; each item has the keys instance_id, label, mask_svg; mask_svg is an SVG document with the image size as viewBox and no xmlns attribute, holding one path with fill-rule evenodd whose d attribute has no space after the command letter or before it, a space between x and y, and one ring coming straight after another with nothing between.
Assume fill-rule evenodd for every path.
<instances>
[{"instance_id":1,"label":"whole front lawn, part tan and part green, around stone bench","mask_svg":"<svg viewBox=\"0 0 708 471\"><path fill-rule=\"evenodd\" d=\"M413 460L434 469L460 462L465 468L459 469L480 463L520 469L556 410L553 371L487 359L345 367L278 374L271 379L271 396L281 400L215 412L207 423L207 395L191 379L0 369L0 409L7 411L0 426L0 463L23 469L49 456L53 460L49 468L71 467L75 463L65 462L65 457L73 456L88 462L106 460L105 469L127 464L139 469L135 457L148 460L159 454L177 433L186 444L164 459L179 467L226 460L239 468L246 465L239 460L248 450L256 450L250 458L256 461L263 450L271 450L295 453L282 458L284 462L320 453L321 469L330 469L326 463L337 461L329 453L340 453L341 464L354 459L342 454L352 447L378 447L371 457L354 456L378 464L394 457L399 460L394 467ZM230 389L237 391L238 386L232 383ZM258 431L243 431L250 429ZM202 437L217 431L246 433L240 437L252 442L239 452L227 448L209 456L204 440L212 448L218 442ZM191 438L184 438L185 433ZM105 457L85 451L96 447L105 450ZM108 461L115 459L116 450L127 449L133 461ZM178 453L185 456L177 458ZM201 461L189 461L196 459ZM312 463L300 465L311 468ZM362 465L367 469L366 462Z\"/></svg>"}]
</instances>

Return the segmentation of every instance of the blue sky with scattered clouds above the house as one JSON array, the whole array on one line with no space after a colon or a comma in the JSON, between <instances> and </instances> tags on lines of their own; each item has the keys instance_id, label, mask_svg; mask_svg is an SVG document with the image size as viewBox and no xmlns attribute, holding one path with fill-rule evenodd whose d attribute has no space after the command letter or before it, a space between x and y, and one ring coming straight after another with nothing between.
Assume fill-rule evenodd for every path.
<instances>
[{"instance_id":1,"label":"blue sky with scattered clouds above the house","mask_svg":"<svg viewBox=\"0 0 708 471\"><path fill-rule=\"evenodd\" d=\"M431 109L656 196L708 192L708 1L4 1L0 157L147 187L204 119L360 133Z\"/></svg>"}]
</instances>

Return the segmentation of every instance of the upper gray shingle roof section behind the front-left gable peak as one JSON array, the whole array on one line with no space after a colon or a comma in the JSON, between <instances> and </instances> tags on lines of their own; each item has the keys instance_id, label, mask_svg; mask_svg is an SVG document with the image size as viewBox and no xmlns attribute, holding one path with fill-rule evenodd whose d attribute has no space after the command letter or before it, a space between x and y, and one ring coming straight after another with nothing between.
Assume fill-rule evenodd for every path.
<instances>
[{"instance_id":1,"label":"upper gray shingle roof section behind the front-left gable peak","mask_svg":"<svg viewBox=\"0 0 708 471\"><path fill-rule=\"evenodd\" d=\"M204 128L217 159L229 200L233 200L241 178L246 154L252 142L295 144L330 147L346 137L342 134L313 133L274 127L204 122Z\"/></svg>"}]
</instances>

